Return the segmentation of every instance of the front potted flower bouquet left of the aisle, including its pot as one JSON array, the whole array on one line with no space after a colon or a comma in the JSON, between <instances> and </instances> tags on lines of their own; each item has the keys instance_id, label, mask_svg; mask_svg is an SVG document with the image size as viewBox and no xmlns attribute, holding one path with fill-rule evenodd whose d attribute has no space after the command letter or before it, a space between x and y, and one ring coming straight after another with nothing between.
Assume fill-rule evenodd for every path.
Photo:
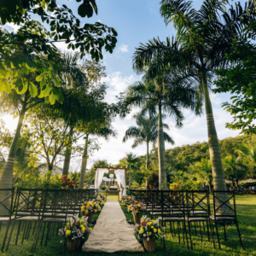
<instances>
[{"instance_id":1,"label":"front potted flower bouquet left of the aisle, including its pot","mask_svg":"<svg viewBox=\"0 0 256 256\"><path fill-rule=\"evenodd\" d=\"M91 228L88 228L84 217L79 214L67 218L67 224L59 230L59 235L67 239L67 249L70 253L79 249L81 238L89 236Z\"/></svg>"}]
</instances>

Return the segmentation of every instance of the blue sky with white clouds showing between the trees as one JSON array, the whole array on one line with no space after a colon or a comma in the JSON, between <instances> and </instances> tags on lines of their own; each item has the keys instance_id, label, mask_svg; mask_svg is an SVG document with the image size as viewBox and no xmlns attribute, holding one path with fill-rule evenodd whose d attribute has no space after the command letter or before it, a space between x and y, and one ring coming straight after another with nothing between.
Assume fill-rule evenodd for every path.
<instances>
[{"instance_id":1,"label":"blue sky with white clouds showing between the trees","mask_svg":"<svg viewBox=\"0 0 256 256\"><path fill-rule=\"evenodd\" d=\"M243 5L245 1L241 1ZM77 14L79 3L75 0L57 0L59 5L66 4L67 7L73 9L73 14ZM109 103L116 102L116 97L120 92L124 91L130 84L141 79L132 70L132 55L135 49L141 44L148 42L148 39L159 37L165 40L166 37L175 36L176 32L172 24L166 26L163 18L160 16L160 0L97 0L98 15L93 15L90 19L79 17L81 24L94 23L100 21L107 26L114 27L118 32L118 43L113 50L113 54L104 52L103 65L106 66L107 78L103 80L108 85L108 94L106 101ZM193 5L195 9L201 6L201 0L195 0ZM234 2L233 2L234 3ZM47 27L47 26L46 26ZM9 31L16 31L17 26L13 24L5 25ZM67 51L65 44L56 44L61 51ZM215 125L218 132L218 139L225 137L236 137L240 131L231 131L225 128L225 123L231 122L232 117L227 113L221 105L223 102L230 101L230 94L211 93L213 115ZM137 148L131 148L133 140L122 143L125 131L131 125L136 125L135 120L131 119L132 115L138 109L128 115L125 119L119 117L113 120L113 128L118 131L118 136L109 138L108 141L99 139L101 149L90 156L89 166L94 160L108 160L113 165L118 164L119 160L126 153L132 152L137 155L146 154L146 144ZM185 144L193 144L196 142L207 142L207 118L205 113L195 116L189 110L183 110L185 120L183 128L177 130L172 118L167 118L165 123L170 126L169 135L175 141L175 145L166 143L166 148L174 148ZM17 125L17 119L13 119L9 115L2 117L10 131L14 131ZM152 148L152 145L150 145ZM75 163L73 163L75 164Z\"/></svg>"}]
</instances>

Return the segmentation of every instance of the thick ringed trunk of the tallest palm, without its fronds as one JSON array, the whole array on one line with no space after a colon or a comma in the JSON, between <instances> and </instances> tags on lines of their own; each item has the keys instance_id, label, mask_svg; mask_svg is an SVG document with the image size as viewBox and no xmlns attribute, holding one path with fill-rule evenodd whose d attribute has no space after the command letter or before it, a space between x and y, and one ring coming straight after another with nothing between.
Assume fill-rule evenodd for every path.
<instances>
[{"instance_id":1,"label":"thick ringed trunk of the tallest palm, without its fronds","mask_svg":"<svg viewBox=\"0 0 256 256\"><path fill-rule=\"evenodd\" d=\"M207 75L202 73L202 84L204 88L205 96L205 108L207 114L207 131L208 131L208 143L209 143L209 153L210 160L212 163L212 178L213 178L213 188L215 190L226 191L226 183L224 178L224 169L221 159L220 147L218 143L217 131L215 128L213 113L212 113L212 103L209 96L208 86L207 86ZM228 201L228 193L219 193L217 195L220 200ZM221 207L219 209L221 213L230 213L228 207ZM216 212L218 214L218 212Z\"/></svg>"}]
</instances>

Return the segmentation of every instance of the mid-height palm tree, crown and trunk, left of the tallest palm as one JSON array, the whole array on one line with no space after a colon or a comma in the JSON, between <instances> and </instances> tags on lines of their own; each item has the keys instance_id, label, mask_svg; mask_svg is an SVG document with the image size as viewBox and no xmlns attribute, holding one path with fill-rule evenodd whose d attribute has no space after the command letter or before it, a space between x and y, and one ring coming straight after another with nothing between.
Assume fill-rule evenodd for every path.
<instances>
[{"instance_id":1,"label":"mid-height palm tree, crown and trunk, left of the tallest palm","mask_svg":"<svg viewBox=\"0 0 256 256\"><path fill-rule=\"evenodd\" d=\"M144 83L143 83L144 82ZM197 108L197 92L190 87L190 79L182 78L176 70L161 70L154 79L146 73L143 82L137 82L121 94L121 116L125 116L132 107L140 107L142 113L150 111L158 113L158 159L159 159L159 188L167 189L166 181L166 150L163 131L162 112L176 120L177 128L183 126L181 108ZM199 111L198 111L199 113Z\"/></svg>"}]
</instances>

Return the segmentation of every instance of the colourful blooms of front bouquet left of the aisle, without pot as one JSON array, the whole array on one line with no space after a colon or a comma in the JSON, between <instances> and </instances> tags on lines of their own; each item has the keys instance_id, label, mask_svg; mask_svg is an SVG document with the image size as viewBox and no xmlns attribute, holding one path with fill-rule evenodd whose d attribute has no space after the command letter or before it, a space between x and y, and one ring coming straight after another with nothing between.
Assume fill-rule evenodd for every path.
<instances>
[{"instance_id":1,"label":"colourful blooms of front bouquet left of the aisle, without pot","mask_svg":"<svg viewBox=\"0 0 256 256\"><path fill-rule=\"evenodd\" d=\"M79 218L79 214L76 214L73 217L67 218L67 224L64 229L59 230L59 235L67 237L69 241L73 241L88 236L90 231L91 228L88 228L84 216Z\"/></svg>"}]
</instances>

